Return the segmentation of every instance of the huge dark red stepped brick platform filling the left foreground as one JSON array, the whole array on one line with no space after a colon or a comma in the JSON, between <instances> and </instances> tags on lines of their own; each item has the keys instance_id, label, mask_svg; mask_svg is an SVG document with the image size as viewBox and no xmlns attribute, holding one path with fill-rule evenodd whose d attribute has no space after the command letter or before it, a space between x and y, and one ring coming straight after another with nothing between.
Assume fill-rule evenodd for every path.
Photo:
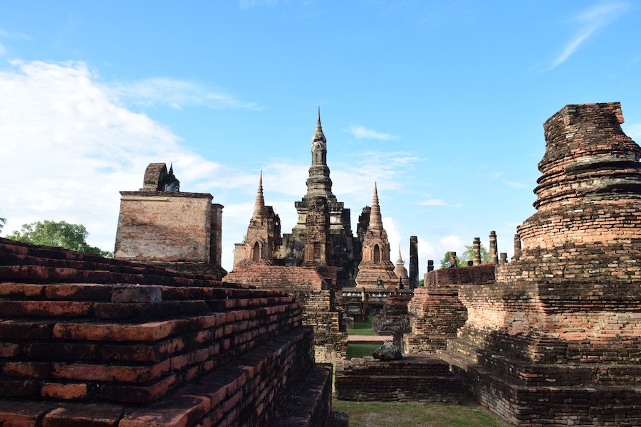
<instances>
[{"instance_id":1,"label":"huge dark red stepped brick platform filling the left foreground","mask_svg":"<svg viewBox=\"0 0 641 427\"><path fill-rule=\"evenodd\" d=\"M0 425L330 425L284 292L6 239L0 265Z\"/></svg>"}]
</instances>

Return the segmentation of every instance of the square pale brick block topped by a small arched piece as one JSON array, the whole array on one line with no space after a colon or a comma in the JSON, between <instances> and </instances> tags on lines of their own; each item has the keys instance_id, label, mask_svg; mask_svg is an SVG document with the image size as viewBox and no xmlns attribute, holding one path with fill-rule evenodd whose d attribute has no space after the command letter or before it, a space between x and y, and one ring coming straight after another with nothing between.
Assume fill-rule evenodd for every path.
<instances>
[{"instance_id":1,"label":"square pale brick block topped by a small arched piece","mask_svg":"<svg viewBox=\"0 0 641 427\"><path fill-rule=\"evenodd\" d=\"M151 163L140 191L120 191L114 258L222 278L222 209L207 193L179 191L164 163Z\"/></svg>"}]
</instances>

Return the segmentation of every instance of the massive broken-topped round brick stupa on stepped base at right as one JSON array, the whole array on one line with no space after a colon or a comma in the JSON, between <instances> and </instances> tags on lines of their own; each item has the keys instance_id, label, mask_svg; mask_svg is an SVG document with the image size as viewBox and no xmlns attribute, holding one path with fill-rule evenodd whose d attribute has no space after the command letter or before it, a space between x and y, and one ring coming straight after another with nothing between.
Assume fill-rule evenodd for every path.
<instances>
[{"instance_id":1,"label":"massive broken-topped round brick stupa on stepped base at right","mask_svg":"<svg viewBox=\"0 0 641 427\"><path fill-rule=\"evenodd\" d=\"M641 147L617 102L544 125L537 213L496 283L462 285L441 356L518 425L641 426Z\"/></svg>"}]
</instances>

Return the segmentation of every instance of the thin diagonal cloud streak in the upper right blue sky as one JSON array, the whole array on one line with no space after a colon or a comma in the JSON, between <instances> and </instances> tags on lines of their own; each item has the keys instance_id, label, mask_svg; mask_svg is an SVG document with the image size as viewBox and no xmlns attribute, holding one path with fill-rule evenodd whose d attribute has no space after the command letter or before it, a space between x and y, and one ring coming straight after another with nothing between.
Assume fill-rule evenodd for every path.
<instances>
[{"instance_id":1,"label":"thin diagonal cloud streak in the upper right blue sky","mask_svg":"<svg viewBox=\"0 0 641 427\"><path fill-rule=\"evenodd\" d=\"M593 36L600 28L608 26L609 23L621 16L629 7L630 4L627 2L604 1L569 19L569 23L578 24L578 29L574 33L573 38L563 47L563 51L561 51L561 53L552 60L548 68L543 71L549 71L561 65L570 58L590 36Z\"/></svg>"}]
</instances>

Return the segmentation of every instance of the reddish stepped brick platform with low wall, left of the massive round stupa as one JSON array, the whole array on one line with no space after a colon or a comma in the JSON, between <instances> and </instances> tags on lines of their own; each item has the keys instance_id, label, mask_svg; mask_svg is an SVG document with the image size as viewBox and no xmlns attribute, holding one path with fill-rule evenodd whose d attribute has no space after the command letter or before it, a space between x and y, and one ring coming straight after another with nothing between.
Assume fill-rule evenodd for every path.
<instances>
[{"instance_id":1,"label":"reddish stepped brick platform with low wall, left of the massive round stupa","mask_svg":"<svg viewBox=\"0 0 641 427\"><path fill-rule=\"evenodd\" d=\"M407 305L410 333L403 336L407 353L435 352L444 349L448 338L467 320L467 309L459 300L462 285L494 282L496 264L488 263L465 268L441 268L424 274L424 288L414 290Z\"/></svg>"}]
</instances>

